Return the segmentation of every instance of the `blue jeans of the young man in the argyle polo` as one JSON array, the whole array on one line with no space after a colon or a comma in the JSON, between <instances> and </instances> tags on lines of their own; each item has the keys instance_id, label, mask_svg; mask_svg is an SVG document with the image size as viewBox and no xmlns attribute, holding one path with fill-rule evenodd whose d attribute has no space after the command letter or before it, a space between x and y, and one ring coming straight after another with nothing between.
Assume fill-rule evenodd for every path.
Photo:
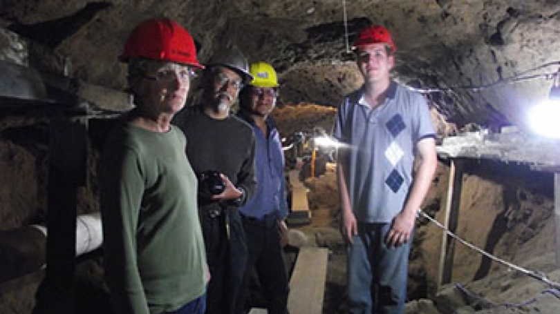
<instances>
[{"instance_id":1,"label":"blue jeans of the young man in the argyle polo","mask_svg":"<svg viewBox=\"0 0 560 314\"><path fill-rule=\"evenodd\" d=\"M390 229L391 224L358 223L358 234L348 246L349 313L404 313L412 239L387 247Z\"/></svg>"}]
</instances>

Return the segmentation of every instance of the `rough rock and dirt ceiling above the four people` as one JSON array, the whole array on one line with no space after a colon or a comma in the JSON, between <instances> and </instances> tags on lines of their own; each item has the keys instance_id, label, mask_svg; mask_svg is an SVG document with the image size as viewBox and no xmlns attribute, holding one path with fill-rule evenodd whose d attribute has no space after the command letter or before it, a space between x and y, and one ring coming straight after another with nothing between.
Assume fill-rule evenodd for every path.
<instances>
[{"instance_id":1,"label":"rough rock and dirt ceiling above the four people","mask_svg":"<svg viewBox=\"0 0 560 314\"><path fill-rule=\"evenodd\" d=\"M560 65L557 0L3 0L0 6L0 26L70 57L73 77L118 89L124 67L117 57L129 31L162 16L192 32L202 61L234 43L251 61L279 70L284 103L326 106L361 84L347 43L362 26L380 23L398 47L395 79L442 90L427 96L459 126L525 128L525 111L548 96L546 74Z\"/></svg>"}]
</instances>

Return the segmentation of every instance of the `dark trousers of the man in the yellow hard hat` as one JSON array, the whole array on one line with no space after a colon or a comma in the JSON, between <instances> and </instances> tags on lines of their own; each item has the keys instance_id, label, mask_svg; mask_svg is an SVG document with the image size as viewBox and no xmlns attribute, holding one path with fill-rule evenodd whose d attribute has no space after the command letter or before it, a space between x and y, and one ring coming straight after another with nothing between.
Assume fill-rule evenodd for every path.
<instances>
[{"instance_id":1,"label":"dark trousers of the man in the yellow hard hat","mask_svg":"<svg viewBox=\"0 0 560 314\"><path fill-rule=\"evenodd\" d=\"M276 215L268 215L261 220L243 216L242 219L249 250L245 286L248 287L252 271L256 271L268 302L268 313L286 314L288 313L288 274L280 245ZM245 289L243 296L247 295L248 291Z\"/></svg>"}]
</instances>

